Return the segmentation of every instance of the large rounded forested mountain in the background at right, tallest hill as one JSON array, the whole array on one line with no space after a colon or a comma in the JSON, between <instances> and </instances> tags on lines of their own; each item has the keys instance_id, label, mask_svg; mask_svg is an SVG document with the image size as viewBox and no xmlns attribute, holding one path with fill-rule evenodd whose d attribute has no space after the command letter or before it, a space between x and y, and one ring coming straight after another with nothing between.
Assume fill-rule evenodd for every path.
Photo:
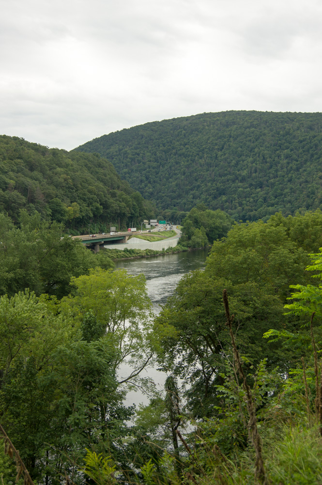
<instances>
[{"instance_id":1,"label":"large rounded forested mountain in the background at right, tallest hill","mask_svg":"<svg viewBox=\"0 0 322 485\"><path fill-rule=\"evenodd\" d=\"M146 123L76 148L106 157L162 209L236 220L321 208L322 113L228 111Z\"/></svg>"}]
</instances>

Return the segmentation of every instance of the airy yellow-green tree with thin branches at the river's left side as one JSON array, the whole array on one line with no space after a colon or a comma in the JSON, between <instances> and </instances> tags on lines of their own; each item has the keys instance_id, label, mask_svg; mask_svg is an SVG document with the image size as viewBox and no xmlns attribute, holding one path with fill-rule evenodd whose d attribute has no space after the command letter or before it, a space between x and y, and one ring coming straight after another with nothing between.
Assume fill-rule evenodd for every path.
<instances>
[{"instance_id":1,"label":"airy yellow-green tree with thin branches at the river's left side","mask_svg":"<svg viewBox=\"0 0 322 485\"><path fill-rule=\"evenodd\" d=\"M119 370L120 384L149 386L149 378L140 372L153 362L151 301L147 295L144 275L127 275L126 271L95 268L89 275L72 277L75 295L61 302L61 310L75 321L84 322L88 312L98 327L105 328L120 353L114 361L115 371L126 362L127 371ZM92 317L91 317L92 318Z\"/></svg>"}]
</instances>

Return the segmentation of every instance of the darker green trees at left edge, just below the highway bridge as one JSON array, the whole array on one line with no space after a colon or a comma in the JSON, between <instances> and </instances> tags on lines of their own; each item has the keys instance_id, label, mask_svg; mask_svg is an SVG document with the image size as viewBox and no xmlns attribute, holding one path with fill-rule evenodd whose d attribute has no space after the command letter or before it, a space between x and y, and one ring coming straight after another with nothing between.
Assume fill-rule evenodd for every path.
<instances>
[{"instance_id":1,"label":"darker green trees at left edge, just below the highway bridge","mask_svg":"<svg viewBox=\"0 0 322 485\"><path fill-rule=\"evenodd\" d=\"M25 210L20 219L19 228L0 213L0 294L12 296L29 288L37 295L61 298L70 291L72 275L113 266L106 255L94 255L80 241L61 237L60 224L41 221L38 213L30 216Z\"/></svg>"}]
</instances>

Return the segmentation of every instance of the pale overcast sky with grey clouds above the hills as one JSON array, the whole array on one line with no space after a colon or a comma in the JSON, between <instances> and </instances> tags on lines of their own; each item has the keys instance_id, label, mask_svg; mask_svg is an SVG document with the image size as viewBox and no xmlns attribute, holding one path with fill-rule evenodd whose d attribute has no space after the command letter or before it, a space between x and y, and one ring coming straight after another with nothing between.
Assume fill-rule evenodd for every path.
<instances>
[{"instance_id":1,"label":"pale overcast sky with grey clouds above the hills","mask_svg":"<svg viewBox=\"0 0 322 485\"><path fill-rule=\"evenodd\" d=\"M149 121L322 111L321 0L0 0L0 133L70 150Z\"/></svg>"}]
</instances>

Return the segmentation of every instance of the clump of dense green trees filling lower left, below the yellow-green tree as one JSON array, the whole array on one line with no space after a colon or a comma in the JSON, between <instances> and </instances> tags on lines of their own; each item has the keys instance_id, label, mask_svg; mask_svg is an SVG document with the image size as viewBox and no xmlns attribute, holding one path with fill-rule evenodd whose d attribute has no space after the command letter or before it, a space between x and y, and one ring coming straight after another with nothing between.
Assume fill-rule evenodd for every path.
<instances>
[{"instance_id":1,"label":"clump of dense green trees filling lower left, below the yellow-green tree","mask_svg":"<svg viewBox=\"0 0 322 485\"><path fill-rule=\"evenodd\" d=\"M81 339L58 309L28 291L0 298L0 417L34 480L67 473L83 484L86 448L125 460L133 410L122 404L111 336Z\"/></svg>"}]
</instances>

